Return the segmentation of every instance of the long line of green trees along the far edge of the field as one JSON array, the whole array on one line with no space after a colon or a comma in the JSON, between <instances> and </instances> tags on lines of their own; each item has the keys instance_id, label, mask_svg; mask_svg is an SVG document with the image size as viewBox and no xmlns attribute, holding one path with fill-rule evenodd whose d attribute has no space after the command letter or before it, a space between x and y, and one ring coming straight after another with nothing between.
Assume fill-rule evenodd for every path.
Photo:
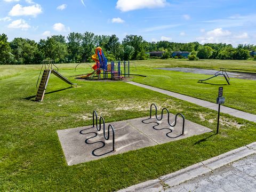
<instances>
[{"instance_id":1,"label":"long line of green trees along the far edge of the field","mask_svg":"<svg viewBox=\"0 0 256 192\"><path fill-rule=\"evenodd\" d=\"M162 59L172 57L174 51L190 52L190 60L249 59L250 52L256 51L256 46L251 44L233 47L225 43L147 42L138 35L126 35L120 42L116 35L95 35L88 31L70 33L67 37L53 35L39 42L20 37L8 42L7 35L0 34L0 64L36 64L44 59L56 63L90 62L97 46L102 47L109 61L145 60L151 51L164 51Z\"/></svg>"}]
</instances>

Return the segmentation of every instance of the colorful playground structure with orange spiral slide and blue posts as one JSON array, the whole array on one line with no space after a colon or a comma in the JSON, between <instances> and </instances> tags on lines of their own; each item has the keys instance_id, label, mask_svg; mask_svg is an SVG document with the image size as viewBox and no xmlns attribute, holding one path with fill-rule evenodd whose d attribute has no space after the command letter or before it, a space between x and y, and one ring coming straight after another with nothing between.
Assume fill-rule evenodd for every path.
<instances>
[{"instance_id":1,"label":"colorful playground structure with orange spiral slide and blue posts","mask_svg":"<svg viewBox=\"0 0 256 192\"><path fill-rule=\"evenodd\" d=\"M130 61L118 61L117 65L114 61L108 63L108 59L105 57L101 47L95 49L92 60L95 61L95 64L92 66L92 73L82 75L80 78L120 80L124 77L130 77Z\"/></svg>"}]
</instances>

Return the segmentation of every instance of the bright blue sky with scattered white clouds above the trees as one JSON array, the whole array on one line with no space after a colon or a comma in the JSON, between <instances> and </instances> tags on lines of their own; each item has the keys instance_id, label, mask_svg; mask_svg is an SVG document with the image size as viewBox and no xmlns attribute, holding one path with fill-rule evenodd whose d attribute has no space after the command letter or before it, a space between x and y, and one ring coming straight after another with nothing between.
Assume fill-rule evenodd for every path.
<instances>
[{"instance_id":1,"label":"bright blue sky with scattered white clouds above the trees","mask_svg":"<svg viewBox=\"0 0 256 192\"><path fill-rule=\"evenodd\" d=\"M148 42L256 45L252 0L0 0L0 34L39 41L90 31Z\"/></svg>"}]
</instances>

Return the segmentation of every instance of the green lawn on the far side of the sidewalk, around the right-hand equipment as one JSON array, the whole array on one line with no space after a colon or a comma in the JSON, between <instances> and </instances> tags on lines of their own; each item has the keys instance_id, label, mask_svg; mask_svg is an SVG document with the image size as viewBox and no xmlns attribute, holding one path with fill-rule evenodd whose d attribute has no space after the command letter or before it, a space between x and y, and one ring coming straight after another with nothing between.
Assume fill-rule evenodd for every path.
<instances>
[{"instance_id":1,"label":"green lawn on the far side of the sidewalk, around the right-hand equipment","mask_svg":"<svg viewBox=\"0 0 256 192\"><path fill-rule=\"evenodd\" d=\"M186 61L178 59L159 60L161 64L155 64L156 60L149 62L140 61L142 68L137 68L138 74L147 75L146 78L135 77L133 81L147 84L161 89L189 95L191 97L203 99L210 102L216 102L218 96L218 87L223 86L223 96L226 97L225 106L256 114L256 81L247 79L230 78L230 85L223 76L218 76L206 81L207 83L198 83L199 79L206 79L213 75L202 75L193 73L182 73L177 71L159 70L154 68L168 67L201 67L201 68L227 68L229 70L251 70L256 71L256 61L239 60L199 60ZM139 62L139 63L140 63ZM151 66L152 67L151 67ZM256 74L255 74L256 76Z\"/></svg>"}]
</instances>

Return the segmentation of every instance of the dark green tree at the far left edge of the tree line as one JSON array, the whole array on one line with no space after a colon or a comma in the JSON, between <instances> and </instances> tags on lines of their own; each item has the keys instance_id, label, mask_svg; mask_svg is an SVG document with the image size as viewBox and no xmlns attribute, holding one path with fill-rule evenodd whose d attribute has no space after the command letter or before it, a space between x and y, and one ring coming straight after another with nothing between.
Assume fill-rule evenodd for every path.
<instances>
[{"instance_id":1,"label":"dark green tree at the far left edge of the tree line","mask_svg":"<svg viewBox=\"0 0 256 192\"><path fill-rule=\"evenodd\" d=\"M8 38L5 34L0 34L0 64L9 64L11 63L12 54L11 47Z\"/></svg>"}]
</instances>

